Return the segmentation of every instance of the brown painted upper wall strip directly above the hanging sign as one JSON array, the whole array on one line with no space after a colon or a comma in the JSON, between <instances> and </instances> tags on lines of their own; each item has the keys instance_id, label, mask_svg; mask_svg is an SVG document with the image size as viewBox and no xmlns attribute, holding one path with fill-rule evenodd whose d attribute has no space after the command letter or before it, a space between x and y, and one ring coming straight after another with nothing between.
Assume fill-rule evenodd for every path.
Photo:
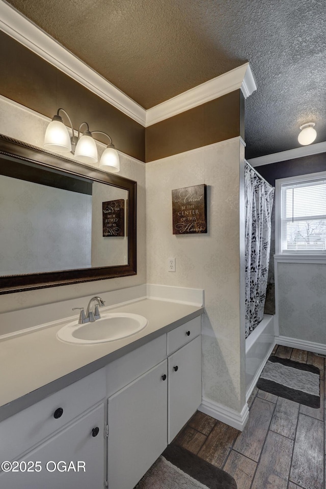
<instances>
[{"instance_id":1,"label":"brown painted upper wall strip directly above the hanging sign","mask_svg":"<svg viewBox=\"0 0 326 489\"><path fill-rule=\"evenodd\" d=\"M244 98L240 90L146 128L146 162L225 141L244 139Z\"/></svg>"}]
</instances>

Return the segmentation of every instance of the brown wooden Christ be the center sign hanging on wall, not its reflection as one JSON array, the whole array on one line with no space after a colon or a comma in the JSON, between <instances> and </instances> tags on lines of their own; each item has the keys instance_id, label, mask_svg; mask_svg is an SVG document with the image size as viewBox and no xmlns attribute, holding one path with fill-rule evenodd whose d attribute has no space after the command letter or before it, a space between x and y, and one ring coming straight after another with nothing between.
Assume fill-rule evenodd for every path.
<instances>
[{"instance_id":1,"label":"brown wooden Christ be the center sign hanging on wall, not its reflection","mask_svg":"<svg viewBox=\"0 0 326 489\"><path fill-rule=\"evenodd\" d=\"M173 234L207 233L206 185L172 191Z\"/></svg>"}]
</instances>

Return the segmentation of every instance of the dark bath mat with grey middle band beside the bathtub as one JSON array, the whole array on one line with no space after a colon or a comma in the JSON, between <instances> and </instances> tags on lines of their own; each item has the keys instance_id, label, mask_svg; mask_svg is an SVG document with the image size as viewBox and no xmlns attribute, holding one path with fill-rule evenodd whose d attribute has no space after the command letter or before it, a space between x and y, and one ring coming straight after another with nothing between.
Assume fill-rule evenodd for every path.
<instances>
[{"instance_id":1,"label":"dark bath mat with grey middle band beside the bathtub","mask_svg":"<svg viewBox=\"0 0 326 489\"><path fill-rule=\"evenodd\" d=\"M291 401L320 408L319 368L279 357L269 357L257 382L258 389Z\"/></svg>"}]
</instances>

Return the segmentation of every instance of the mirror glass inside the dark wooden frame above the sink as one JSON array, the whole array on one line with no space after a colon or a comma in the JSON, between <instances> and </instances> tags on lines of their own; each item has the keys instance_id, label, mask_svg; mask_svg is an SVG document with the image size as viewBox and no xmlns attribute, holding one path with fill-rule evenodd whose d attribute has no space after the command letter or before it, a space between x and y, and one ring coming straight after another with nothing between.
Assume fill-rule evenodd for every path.
<instances>
[{"instance_id":1,"label":"mirror glass inside the dark wooden frame above the sink","mask_svg":"<svg viewBox=\"0 0 326 489\"><path fill-rule=\"evenodd\" d=\"M127 263L126 230L103 237L102 222L102 202L126 202L127 191L23 161L10 165L14 176L0 175L0 275ZM117 222L116 214L109 219Z\"/></svg>"}]
</instances>

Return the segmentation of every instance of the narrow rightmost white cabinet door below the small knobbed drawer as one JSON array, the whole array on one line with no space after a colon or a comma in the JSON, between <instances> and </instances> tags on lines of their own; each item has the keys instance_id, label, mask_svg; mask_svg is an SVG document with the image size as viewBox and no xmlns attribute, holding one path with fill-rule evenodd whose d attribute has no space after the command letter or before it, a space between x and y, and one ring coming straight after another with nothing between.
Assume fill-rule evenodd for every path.
<instances>
[{"instance_id":1,"label":"narrow rightmost white cabinet door below the small knobbed drawer","mask_svg":"<svg viewBox=\"0 0 326 489\"><path fill-rule=\"evenodd\" d=\"M168 443L202 401L201 336L168 358Z\"/></svg>"}]
</instances>

